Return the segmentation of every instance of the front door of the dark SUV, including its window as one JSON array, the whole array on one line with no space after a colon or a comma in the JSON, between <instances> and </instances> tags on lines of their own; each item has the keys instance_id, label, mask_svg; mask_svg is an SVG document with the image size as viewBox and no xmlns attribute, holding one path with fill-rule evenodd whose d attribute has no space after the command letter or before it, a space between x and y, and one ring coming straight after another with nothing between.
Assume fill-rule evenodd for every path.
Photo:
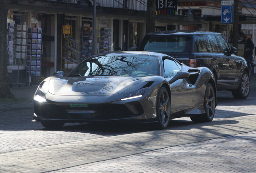
<instances>
[{"instance_id":1,"label":"front door of the dark SUV, including its window","mask_svg":"<svg viewBox=\"0 0 256 173\"><path fill-rule=\"evenodd\" d=\"M231 87L236 87L237 84L237 75L239 72L239 60L236 60L233 55L227 54L226 52L230 52L230 47L225 38L222 35L216 35L216 38L219 42L219 46L221 48L222 56L226 58L229 66L227 68L227 75L225 78L221 79L218 82L225 84L226 88L231 89Z\"/></svg>"}]
</instances>

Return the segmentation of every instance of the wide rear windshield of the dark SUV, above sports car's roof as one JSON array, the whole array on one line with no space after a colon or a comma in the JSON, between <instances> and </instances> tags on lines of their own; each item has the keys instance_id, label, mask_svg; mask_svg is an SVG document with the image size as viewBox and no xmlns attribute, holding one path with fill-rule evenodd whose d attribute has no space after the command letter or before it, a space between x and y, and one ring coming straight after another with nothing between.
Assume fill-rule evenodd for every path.
<instances>
[{"instance_id":1,"label":"wide rear windshield of the dark SUV, above sports car's roof","mask_svg":"<svg viewBox=\"0 0 256 173\"><path fill-rule=\"evenodd\" d=\"M150 36L145 38L140 50L189 53L190 40L191 38L186 36Z\"/></svg>"}]
</instances>

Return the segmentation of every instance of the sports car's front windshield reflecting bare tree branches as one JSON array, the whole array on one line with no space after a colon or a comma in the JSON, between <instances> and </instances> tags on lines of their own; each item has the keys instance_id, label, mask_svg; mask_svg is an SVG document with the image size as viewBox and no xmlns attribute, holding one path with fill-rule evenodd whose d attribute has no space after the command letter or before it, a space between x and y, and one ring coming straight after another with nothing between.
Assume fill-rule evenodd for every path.
<instances>
[{"instance_id":1,"label":"sports car's front windshield reflecting bare tree branches","mask_svg":"<svg viewBox=\"0 0 256 173\"><path fill-rule=\"evenodd\" d=\"M68 76L153 76L159 74L157 56L108 54L84 60Z\"/></svg>"}]
</instances>

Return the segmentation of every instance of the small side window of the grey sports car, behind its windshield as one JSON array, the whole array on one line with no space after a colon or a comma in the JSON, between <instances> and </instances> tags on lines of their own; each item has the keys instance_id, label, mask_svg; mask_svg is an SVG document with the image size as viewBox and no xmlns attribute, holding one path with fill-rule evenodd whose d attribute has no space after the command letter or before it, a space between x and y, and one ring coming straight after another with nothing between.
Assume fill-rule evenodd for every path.
<instances>
[{"instance_id":1,"label":"small side window of the grey sports car, behind its windshield","mask_svg":"<svg viewBox=\"0 0 256 173\"><path fill-rule=\"evenodd\" d=\"M177 62L170 59L163 60L163 70L165 73L165 78L174 76L175 74L177 74L178 71L180 71L180 69L181 65Z\"/></svg>"}]
</instances>

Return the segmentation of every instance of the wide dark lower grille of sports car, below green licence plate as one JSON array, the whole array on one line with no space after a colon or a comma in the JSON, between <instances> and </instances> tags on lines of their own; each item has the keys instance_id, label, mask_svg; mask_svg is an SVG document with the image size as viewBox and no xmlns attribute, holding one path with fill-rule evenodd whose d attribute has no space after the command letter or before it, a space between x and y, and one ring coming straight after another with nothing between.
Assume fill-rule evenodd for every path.
<instances>
[{"instance_id":1,"label":"wide dark lower grille of sports car, below green licence plate","mask_svg":"<svg viewBox=\"0 0 256 173\"><path fill-rule=\"evenodd\" d=\"M139 102L124 104L88 104L88 107L70 107L70 103L46 103L35 106L40 117L66 120L116 120L143 114Z\"/></svg>"}]
</instances>

